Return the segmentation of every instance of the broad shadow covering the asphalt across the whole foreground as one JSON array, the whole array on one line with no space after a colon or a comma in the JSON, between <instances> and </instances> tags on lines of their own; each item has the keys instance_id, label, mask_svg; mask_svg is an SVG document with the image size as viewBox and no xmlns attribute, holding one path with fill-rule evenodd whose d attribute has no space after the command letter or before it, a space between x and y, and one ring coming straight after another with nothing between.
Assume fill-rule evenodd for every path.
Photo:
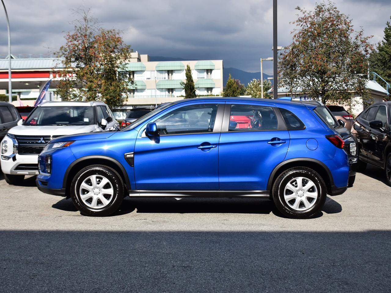
<instances>
[{"instance_id":1,"label":"broad shadow covering the asphalt across the whole foreground","mask_svg":"<svg viewBox=\"0 0 391 293\"><path fill-rule=\"evenodd\" d=\"M344 293L391 286L390 230L0 230L0 243L2 292Z\"/></svg>"}]
</instances>

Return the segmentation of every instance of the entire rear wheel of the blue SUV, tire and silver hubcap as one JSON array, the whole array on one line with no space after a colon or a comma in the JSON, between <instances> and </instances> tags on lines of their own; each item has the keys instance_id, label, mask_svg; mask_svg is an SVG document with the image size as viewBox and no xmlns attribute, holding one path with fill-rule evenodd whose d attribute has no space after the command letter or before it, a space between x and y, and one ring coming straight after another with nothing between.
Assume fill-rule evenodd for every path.
<instances>
[{"instance_id":1,"label":"entire rear wheel of the blue SUV, tire and silver hubcap","mask_svg":"<svg viewBox=\"0 0 391 293\"><path fill-rule=\"evenodd\" d=\"M289 218L303 219L321 210L326 201L326 184L314 170L291 168L277 177L272 197L277 209Z\"/></svg>"}]
</instances>

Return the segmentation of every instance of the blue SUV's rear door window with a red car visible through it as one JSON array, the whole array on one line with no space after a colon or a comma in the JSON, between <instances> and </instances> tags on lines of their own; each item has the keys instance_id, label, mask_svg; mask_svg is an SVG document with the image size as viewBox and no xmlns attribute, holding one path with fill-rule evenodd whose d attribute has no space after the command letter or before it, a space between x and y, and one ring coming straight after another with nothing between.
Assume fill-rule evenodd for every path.
<instances>
[{"instance_id":1,"label":"blue SUV's rear door window with a red car visible through it","mask_svg":"<svg viewBox=\"0 0 391 293\"><path fill-rule=\"evenodd\" d=\"M229 131L273 130L278 121L273 107L258 105L231 105Z\"/></svg>"}]
</instances>

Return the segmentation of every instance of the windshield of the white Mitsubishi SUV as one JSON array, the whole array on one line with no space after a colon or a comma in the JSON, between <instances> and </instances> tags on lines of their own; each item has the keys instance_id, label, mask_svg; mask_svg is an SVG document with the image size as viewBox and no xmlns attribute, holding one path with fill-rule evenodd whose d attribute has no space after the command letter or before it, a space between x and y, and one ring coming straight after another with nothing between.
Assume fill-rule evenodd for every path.
<instances>
[{"instance_id":1,"label":"windshield of the white Mitsubishi SUV","mask_svg":"<svg viewBox=\"0 0 391 293\"><path fill-rule=\"evenodd\" d=\"M94 124L94 109L91 106L45 106L36 107L23 125L91 125Z\"/></svg>"}]
</instances>

